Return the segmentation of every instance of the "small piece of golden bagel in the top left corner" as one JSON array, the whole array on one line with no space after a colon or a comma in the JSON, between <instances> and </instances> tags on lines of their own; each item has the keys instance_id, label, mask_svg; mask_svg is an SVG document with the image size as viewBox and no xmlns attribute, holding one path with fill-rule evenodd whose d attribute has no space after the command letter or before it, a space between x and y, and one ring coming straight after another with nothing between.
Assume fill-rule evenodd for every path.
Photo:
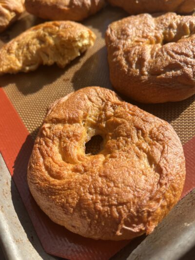
<instances>
[{"instance_id":1,"label":"small piece of golden bagel in the top left corner","mask_svg":"<svg viewBox=\"0 0 195 260\"><path fill-rule=\"evenodd\" d=\"M0 0L0 32L16 21L24 11L24 0Z\"/></svg>"}]
</instances>

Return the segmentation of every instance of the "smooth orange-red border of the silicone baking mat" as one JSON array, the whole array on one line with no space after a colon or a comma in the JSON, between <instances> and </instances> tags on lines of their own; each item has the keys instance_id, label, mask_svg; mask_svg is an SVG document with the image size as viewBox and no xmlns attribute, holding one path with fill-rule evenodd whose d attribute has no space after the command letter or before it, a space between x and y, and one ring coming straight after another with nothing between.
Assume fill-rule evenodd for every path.
<instances>
[{"instance_id":1,"label":"smooth orange-red border of the silicone baking mat","mask_svg":"<svg viewBox=\"0 0 195 260\"><path fill-rule=\"evenodd\" d=\"M2 88L0 88L0 119L0 153L47 253L71 260L108 260L131 242L82 238L51 221L31 196L26 180L33 139ZM194 148L195 137L184 145L187 175L181 198L195 188Z\"/></svg>"}]
</instances>

